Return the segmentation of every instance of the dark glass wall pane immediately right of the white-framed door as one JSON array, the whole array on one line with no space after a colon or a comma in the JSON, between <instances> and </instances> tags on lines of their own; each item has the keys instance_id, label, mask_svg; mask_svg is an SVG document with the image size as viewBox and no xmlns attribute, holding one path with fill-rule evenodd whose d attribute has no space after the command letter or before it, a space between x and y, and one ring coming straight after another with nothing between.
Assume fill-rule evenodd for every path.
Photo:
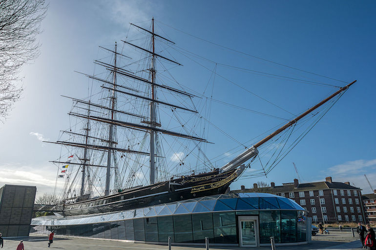
<instances>
[{"instance_id":1,"label":"dark glass wall pane immediately right of the white-framed door","mask_svg":"<svg viewBox=\"0 0 376 250\"><path fill-rule=\"evenodd\" d=\"M280 241L280 214L279 211L260 211L260 241L270 243L270 237L274 236L276 243Z\"/></svg>"}]
</instances>

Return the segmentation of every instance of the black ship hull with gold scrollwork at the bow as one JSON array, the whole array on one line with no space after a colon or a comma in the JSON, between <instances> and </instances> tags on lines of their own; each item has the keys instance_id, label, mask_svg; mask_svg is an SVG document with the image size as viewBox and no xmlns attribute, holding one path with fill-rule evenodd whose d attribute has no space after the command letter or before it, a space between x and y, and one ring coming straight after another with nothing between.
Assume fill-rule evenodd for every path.
<instances>
[{"instance_id":1,"label":"black ship hull with gold scrollwork at the bow","mask_svg":"<svg viewBox=\"0 0 376 250\"><path fill-rule=\"evenodd\" d=\"M215 170L179 179L159 182L117 194L82 202L64 204L58 208L62 215L84 215L125 211L179 200L225 193L230 184L243 172L243 168L219 173Z\"/></svg>"}]
</instances>

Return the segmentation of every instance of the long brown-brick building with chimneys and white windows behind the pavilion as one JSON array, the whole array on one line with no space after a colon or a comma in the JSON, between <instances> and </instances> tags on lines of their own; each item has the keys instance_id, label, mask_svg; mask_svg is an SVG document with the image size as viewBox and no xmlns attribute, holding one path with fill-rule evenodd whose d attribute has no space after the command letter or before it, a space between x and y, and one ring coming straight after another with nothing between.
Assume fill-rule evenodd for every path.
<instances>
[{"instance_id":1,"label":"long brown-brick building with chimneys and white windows behind the pavilion","mask_svg":"<svg viewBox=\"0 0 376 250\"><path fill-rule=\"evenodd\" d=\"M282 186L275 186L271 182L271 186L266 188L257 187L255 183L252 189L242 186L241 190L231 192L269 192L291 198L305 208L316 222L364 222L365 218L361 189L351 186L349 182L333 182L332 177L310 183L299 183L294 179L294 182ZM376 205L376 199L374 202Z\"/></svg>"}]
</instances>

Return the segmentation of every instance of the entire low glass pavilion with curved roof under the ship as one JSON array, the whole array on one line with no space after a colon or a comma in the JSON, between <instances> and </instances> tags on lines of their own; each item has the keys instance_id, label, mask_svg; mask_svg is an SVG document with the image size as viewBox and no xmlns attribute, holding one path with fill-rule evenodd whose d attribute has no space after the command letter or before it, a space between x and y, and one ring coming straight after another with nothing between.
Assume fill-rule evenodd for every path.
<instances>
[{"instance_id":1,"label":"entire low glass pavilion with curved roof under the ship","mask_svg":"<svg viewBox=\"0 0 376 250\"><path fill-rule=\"evenodd\" d=\"M307 243L311 223L291 199L269 193L220 194L147 208L33 218L30 232L176 244L262 246ZM285 245L284 244L284 245Z\"/></svg>"}]
</instances>

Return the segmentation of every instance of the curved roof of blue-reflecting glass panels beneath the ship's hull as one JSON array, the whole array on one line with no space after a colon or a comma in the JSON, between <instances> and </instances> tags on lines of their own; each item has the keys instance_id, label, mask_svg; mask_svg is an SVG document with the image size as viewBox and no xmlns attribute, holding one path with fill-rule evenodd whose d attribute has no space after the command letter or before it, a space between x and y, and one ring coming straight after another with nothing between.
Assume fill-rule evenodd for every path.
<instances>
[{"instance_id":1,"label":"curved roof of blue-reflecting glass panels beneath the ship's hull","mask_svg":"<svg viewBox=\"0 0 376 250\"><path fill-rule=\"evenodd\" d=\"M63 226L104 223L110 221L202 212L249 210L302 210L295 201L270 193L231 193L204 196L134 210L62 217L57 215L33 218L32 226Z\"/></svg>"}]
</instances>

